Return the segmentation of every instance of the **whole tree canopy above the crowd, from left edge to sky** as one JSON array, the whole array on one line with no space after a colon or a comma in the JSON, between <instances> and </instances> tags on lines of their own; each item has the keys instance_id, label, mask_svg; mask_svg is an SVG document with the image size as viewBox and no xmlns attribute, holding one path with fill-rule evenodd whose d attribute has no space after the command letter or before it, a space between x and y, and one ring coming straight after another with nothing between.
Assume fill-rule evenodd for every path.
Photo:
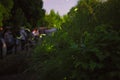
<instances>
[{"instance_id":1,"label":"whole tree canopy above the crowd, from left edge to sky","mask_svg":"<svg viewBox=\"0 0 120 80\"><path fill-rule=\"evenodd\" d=\"M42 0L1 0L0 26L43 26L45 10Z\"/></svg>"}]
</instances>

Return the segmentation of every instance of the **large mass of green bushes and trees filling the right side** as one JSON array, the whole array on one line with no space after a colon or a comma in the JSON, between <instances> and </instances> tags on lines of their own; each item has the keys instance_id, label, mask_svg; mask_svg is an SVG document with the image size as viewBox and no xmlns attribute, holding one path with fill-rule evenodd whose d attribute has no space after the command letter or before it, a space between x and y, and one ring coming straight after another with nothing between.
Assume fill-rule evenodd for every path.
<instances>
[{"instance_id":1,"label":"large mass of green bushes and trees filling the right side","mask_svg":"<svg viewBox=\"0 0 120 80\"><path fill-rule=\"evenodd\" d=\"M31 69L41 80L119 80L119 5L79 0L64 16L62 30L36 47Z\"/></svg>"}]
</instances>

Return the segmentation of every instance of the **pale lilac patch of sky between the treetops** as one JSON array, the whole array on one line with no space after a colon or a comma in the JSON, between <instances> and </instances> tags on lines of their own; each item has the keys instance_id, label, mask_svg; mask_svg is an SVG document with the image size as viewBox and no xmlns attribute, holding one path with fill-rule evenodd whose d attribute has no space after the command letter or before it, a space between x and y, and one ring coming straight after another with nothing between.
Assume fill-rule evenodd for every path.
<instances>
[{"instance_id":1,"label":"pale lilac patch of sky between the treetops","mask_svg":"<svg viewBox=\"0 0 120 80\"><path fill-rule=\"evenodd\" d=\"M43 0L43 8L49 14L53 9L59 12L60 15L67 14L69 10L77 4L78 0Z\"/></svg>"}]
</instances>

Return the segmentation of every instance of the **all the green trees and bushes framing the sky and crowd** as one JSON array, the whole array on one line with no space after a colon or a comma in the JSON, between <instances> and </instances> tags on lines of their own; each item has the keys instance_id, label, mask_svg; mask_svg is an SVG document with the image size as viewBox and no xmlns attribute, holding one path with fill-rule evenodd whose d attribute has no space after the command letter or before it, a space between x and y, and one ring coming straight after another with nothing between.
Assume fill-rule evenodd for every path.
<instances>
[{"instance_id":1,"label":"all the green trees and bushes framing the sky and crowd","mask_svg":"<svg viewBox=\"0 0 120 80\"><path fill-rule=\"evenodd\" d=\"M42 0L0 0L0 26L48 26L32 55L39 80L119 80L120 0L79 0L67 15L45 15Z\"/></svg>"}]
</instances>

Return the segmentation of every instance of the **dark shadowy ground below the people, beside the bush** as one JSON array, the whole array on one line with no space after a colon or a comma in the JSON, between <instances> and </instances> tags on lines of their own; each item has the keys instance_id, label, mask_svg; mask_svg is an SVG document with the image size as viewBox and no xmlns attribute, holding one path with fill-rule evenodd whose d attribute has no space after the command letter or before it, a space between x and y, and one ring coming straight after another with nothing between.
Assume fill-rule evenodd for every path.
<instances>
[{"instance_id":1,"label":"dark shadowy ground below the people, beside the bush","mask_svg":"<svg viewBox=\"0 0 120 80\"><path fill-rule=\"evenodd\" d=\"M0 60L0 80L36 80L34 73L26 72L29 62L28 52L7 55Z\"/></svg>"}]
</instances>

